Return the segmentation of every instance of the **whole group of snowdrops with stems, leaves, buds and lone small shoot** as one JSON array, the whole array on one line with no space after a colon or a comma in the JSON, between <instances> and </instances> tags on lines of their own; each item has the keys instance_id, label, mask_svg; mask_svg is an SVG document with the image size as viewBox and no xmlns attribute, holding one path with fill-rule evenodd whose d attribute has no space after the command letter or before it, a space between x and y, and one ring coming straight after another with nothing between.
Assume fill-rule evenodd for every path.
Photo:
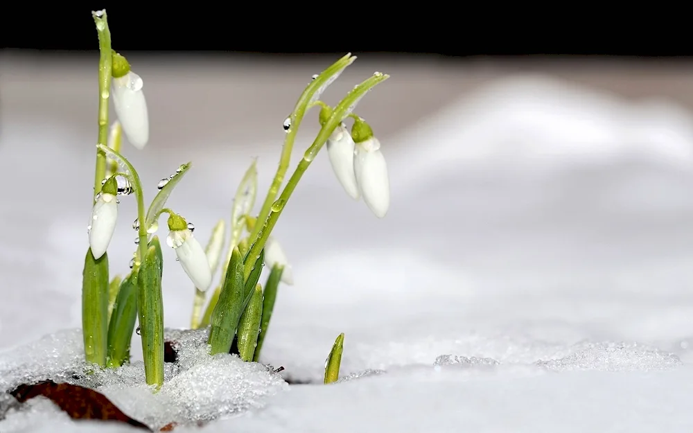
<instances>
[{"instance_id":1,"label":"whole group of snowdrops with stems, leaves, buds and lone small shoot","mask_svg":"<svg viewBox=\"0 0 693 433\"><path fill-rule=\"evenodd\" d=\"M191 328L209 326L212 355L229 353L236 339L238 353L245 361L258 361L272 317L274 300L281 282L292 284L292 269L281 245L271 236L301 176L326 145L335 176L347 194L363 198L369 209L383 218L389 207L387 164L380 142L363 118L353 109L365 94L388 78L376 72L331 107L322 92L356 60L347 54L322 73L313 76L290 116L283 122L286 132L279 168L255 215L258 173L253 162L241 180L227 229L220 220L211 231L206 247L196 238L195 227L184 216L166 207L175 186L191 168L182 164L173 175L161 179L158 193L145 206L144 189L137 170L121 151L123 135L135 148L149 141L149 121L143 80L132 71L128 60L111 48L111 34L105 10L92 12L98 33L98 141L94 197L89 222L89 249L82 282L82 329L85 358L97 368L117 368L130 361L130 342L139 321L146 381L154 389L164 382L164 302L161 276L164 271L162 246L157 236L161 215L168 215L166 245L173 248L195 288ZM117 120L110 123L109 99L113 99ZM283 180L299 126L313 107L319 107L321 125L315 140L304 153L286 184ZM353 119L351 132L344 121ZM283 188L282 188L283 186ZM281 191L280 191L281 189ZM130 272L109 279L107 249L116 228L119 197L134 195L137 231ZM227 233L230 240L226 254ZM269 267L264 286L259 283L263 266ZM213 286L221 268L220 283ZM205 303L207 307L205 308ZM339 376L344 334L337 337L328 357L325 382Z\"/></svg>"}]
</instances>

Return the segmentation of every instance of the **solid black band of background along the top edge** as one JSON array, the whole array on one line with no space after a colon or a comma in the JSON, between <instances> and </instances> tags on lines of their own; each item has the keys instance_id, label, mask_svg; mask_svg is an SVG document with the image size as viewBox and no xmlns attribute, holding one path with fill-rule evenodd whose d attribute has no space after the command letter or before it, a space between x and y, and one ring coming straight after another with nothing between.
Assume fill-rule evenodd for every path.
<instances>
[{"instance_id":1,"label":"solid black band of background along the top edge","mask_svg":"<svg viewBox=\"0 0 693 433\"><path fill-rule=\"evenodd\" d=\"M502 3L145 2L13 4L0 12L5 48L96 50L91 10L106 8L120 51L432 53L479 55L693 55L676 10L565 8ZM156 5L157 3L152 3ZM659 20L662 11L667 21ZM614 13L616 12L616 13ZM644 13L644 12L643 12ZM645 20L647 19L647 20Z\"/></svg>"}]
</instances>

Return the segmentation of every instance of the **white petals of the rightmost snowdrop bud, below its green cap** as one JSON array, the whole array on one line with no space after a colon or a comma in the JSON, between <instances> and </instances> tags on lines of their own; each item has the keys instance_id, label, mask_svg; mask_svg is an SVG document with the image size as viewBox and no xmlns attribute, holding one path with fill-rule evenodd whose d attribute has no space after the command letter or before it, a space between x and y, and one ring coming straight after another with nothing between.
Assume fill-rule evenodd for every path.
<instances>
[{"instance_id":1,"label":"white petals of the rightmost snowdrop bud, below its green cap","mask_svg":"<svg viewBox=\"0 0 693 433\"><path fill-rule=\"evenodd\" d=\"M385 157L380 152L380 141L376 137L356 143L353 170L363 200L378 218L383 218L389 208L389 177Z\"/></svg>"}]
</instances>

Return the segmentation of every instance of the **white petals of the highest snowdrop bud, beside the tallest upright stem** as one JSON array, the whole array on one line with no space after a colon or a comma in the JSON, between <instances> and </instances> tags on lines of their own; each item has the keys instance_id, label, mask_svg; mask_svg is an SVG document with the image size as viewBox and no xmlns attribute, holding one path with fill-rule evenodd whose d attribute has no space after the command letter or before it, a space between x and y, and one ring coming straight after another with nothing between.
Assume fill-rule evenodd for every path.
<instances>
[{"instance_id":1,"label":"white petals of the highest snowdrop bud, beside the tallest upright stem","mask_svg":"<svg viewBox=\"0 0 693 433\"><path fill-rule=\"evenodd\" d=\"M142 86L142 79L132 71L113 79L116 114L128 141L138 149L144 148L149 141L149 116Z\"/></svg>"}]
</instances>

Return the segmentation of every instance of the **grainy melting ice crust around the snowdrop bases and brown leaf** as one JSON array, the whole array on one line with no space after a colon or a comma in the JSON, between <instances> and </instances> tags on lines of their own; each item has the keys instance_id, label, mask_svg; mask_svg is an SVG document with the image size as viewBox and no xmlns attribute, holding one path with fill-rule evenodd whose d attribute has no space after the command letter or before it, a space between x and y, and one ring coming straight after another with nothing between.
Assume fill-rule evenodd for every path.
<instances>
[{"instance_id":1,"label":"grainy melting ice crust around the snowdrop bases and brown leaf","mask_svg":"<svg viewBox=\"0 0 693 433\"><path fill-rule=\"evenodd\" d=\"M41 380L89 387L107 396L125 414L155 429L171 422L195 424L262 407L268 396L288 387L269 366L243 362L236 355L210 356L206 330L167 330L166 340L175 342L177 360L164 364L164 386L156 394L146 386L142 362L89 374L91 369L81 359L84 346L80 330L57 333L0 355L0 387L12 390ZM38 405L35 421L41 423L38 414L46 404L29 406L33 405ZM10 430L27 418L21 411L8 412L5 422Z\"/></svg>"}]
</instances>

